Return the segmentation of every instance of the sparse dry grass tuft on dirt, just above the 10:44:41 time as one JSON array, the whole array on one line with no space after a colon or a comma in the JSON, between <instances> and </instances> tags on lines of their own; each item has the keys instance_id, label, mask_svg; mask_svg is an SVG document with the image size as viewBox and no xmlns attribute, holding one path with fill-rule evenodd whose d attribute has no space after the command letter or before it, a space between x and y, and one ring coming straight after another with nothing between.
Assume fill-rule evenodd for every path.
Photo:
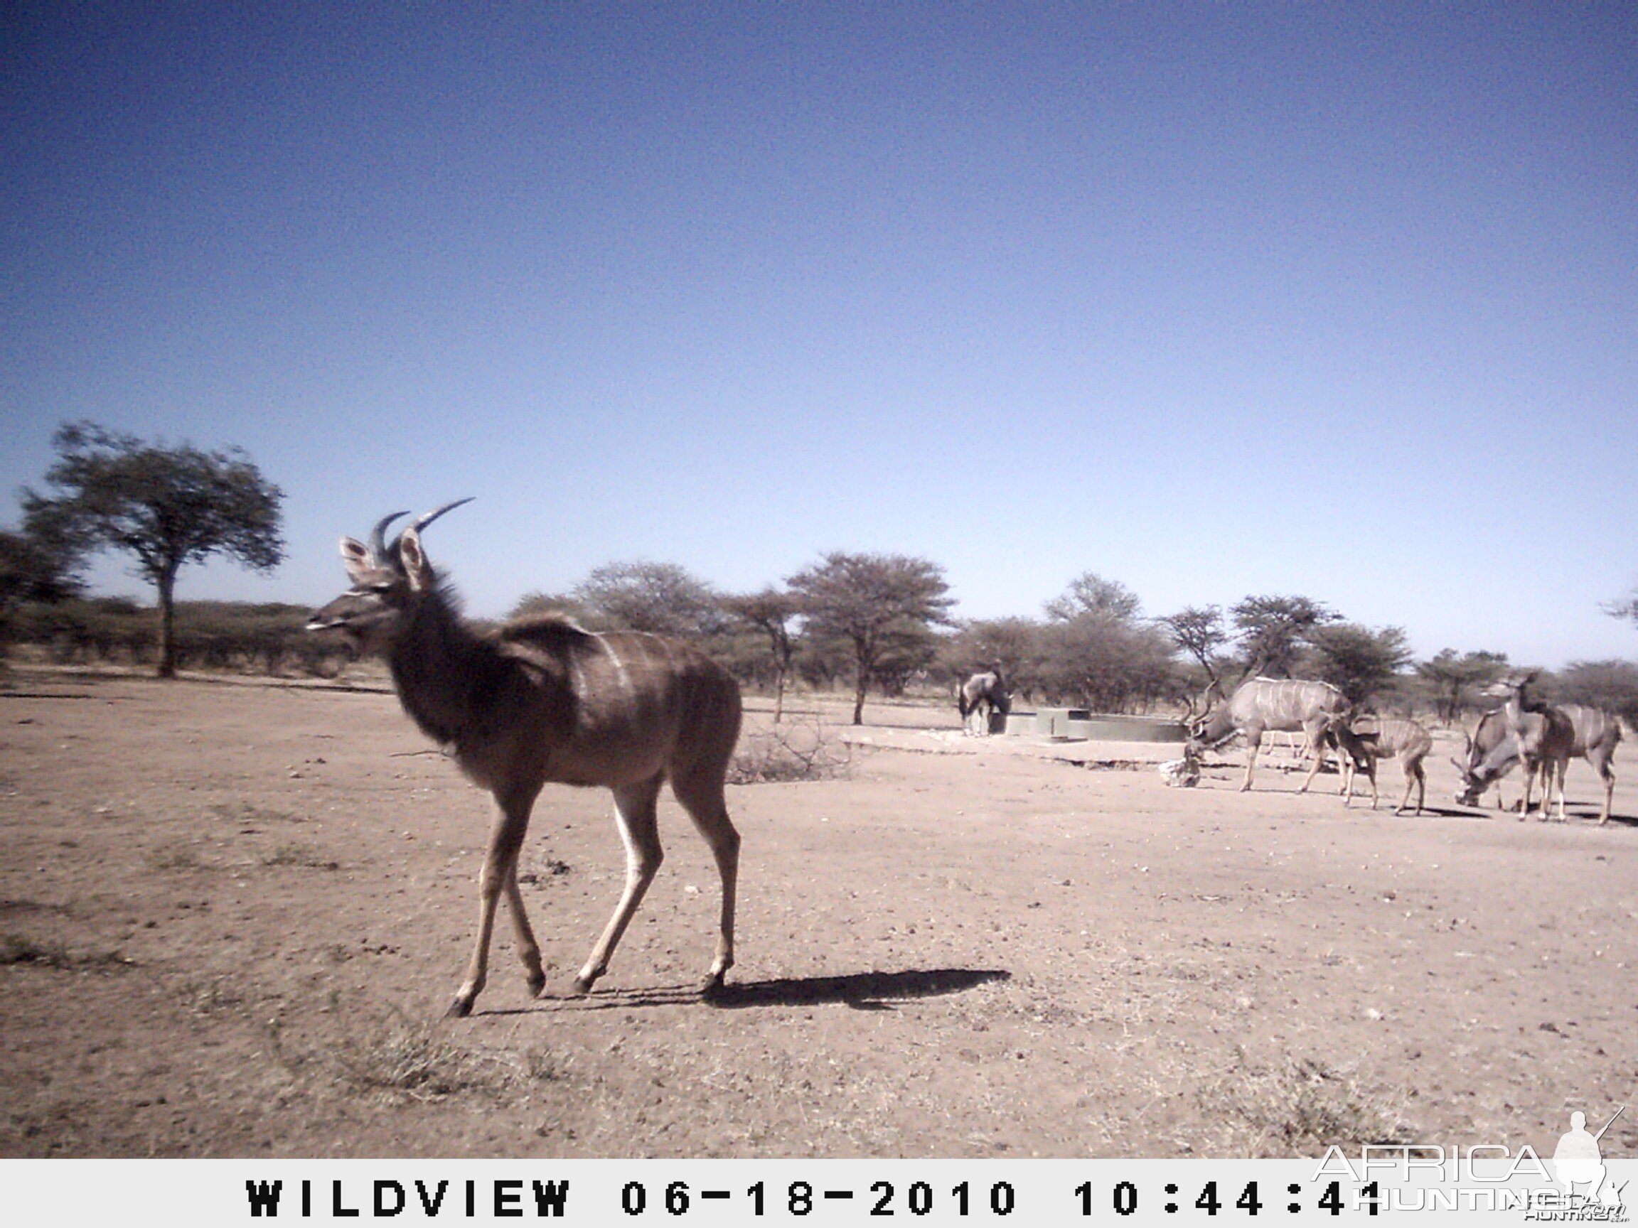
<instances>
[{"instance_id":1,"label":"sparse dry grass tuft on dirt, just above the 10:44:41 time","mask_svg":"<svg viewBox=\"0 0 1638 1228\"><path fill-rule=\"evenodd\" d=\"M1368 1089L1355 1069L1314 1058L1253 1066L1237 1048L1233 1066L1197 1099L1202 1110L1225 1120L1235 1154L1255 1159L1317 1156L1333 1144L1353 1153L1409 1138L1402 1090Z\"/></svg>"}]
</instances>

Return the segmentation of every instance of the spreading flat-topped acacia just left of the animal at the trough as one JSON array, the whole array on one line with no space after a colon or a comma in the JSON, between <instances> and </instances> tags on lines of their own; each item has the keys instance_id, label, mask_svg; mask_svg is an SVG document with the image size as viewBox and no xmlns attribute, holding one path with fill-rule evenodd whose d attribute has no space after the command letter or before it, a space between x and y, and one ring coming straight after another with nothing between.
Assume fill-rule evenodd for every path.
<instances>
[{"instance_id":1,"label":"spreading flat-topped acacia just left of the animal at the trough","mask_svg":"<svg viewBox=\"0 0 1638 1228\"><path fill-rule=\"evenodd\" d=\"M935 622L948 624L955 604L943 568L906 555L834 550L785 583L796 596L808 630L821 639L845 640L853 650L855 725L865 724L865 691L889 661L889 653L898 658L917 632L927 632Z\"/></svg>"}]
</instances>

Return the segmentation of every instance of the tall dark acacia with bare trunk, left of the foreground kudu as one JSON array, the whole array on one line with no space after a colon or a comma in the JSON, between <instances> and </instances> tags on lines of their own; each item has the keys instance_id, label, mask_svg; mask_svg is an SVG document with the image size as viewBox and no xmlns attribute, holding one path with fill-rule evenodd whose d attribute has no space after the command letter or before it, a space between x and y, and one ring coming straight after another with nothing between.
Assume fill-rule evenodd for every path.
<instances>
[{"instance_id":1,"label":"tall dark acacia with bare trunk, left of the foreground kudu","mask_svg":"<svg viewBox=\"0 0 1638 1228\"><path fill-rule=\"evenodd\" d=\"M285 557L283 493L236 447L200 452L69 422L52 436L46 470L57 494L23 491L25 530L77 555L103 549L136 557L159 598L159 676L177 673L175 589L185 563L228 555L256 571Z\"/></svg>"}]
</instances>

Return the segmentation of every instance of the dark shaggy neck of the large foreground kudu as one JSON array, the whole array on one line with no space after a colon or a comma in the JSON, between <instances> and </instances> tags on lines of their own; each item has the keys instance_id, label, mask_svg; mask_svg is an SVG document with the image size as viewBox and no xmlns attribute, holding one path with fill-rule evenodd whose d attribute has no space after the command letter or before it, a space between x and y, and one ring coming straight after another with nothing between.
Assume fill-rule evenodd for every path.
<instances>
[{"instance_id":1,"label":"dark shaggy neck of the large foreground kudu","mask_svg":"<svg viewBox=\"0 0 1638 1228\"><path fill-rule=\"evenodd\" d=\"M454 593L431 589L387 655L398 702L434 742L449 745L477 719L505 661L462 621Z\"/></svg>"}]
</instances>

